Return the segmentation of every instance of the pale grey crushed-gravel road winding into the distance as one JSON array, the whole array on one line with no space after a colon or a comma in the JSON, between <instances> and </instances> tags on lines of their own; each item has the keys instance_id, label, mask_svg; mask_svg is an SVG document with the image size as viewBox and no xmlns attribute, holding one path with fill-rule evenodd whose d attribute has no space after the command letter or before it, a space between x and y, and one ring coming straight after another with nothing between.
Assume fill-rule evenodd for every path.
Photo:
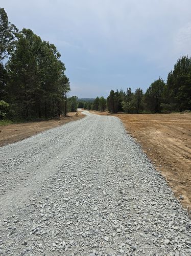
<instances>
[{"instance_id":1,"label":"pale grey crushed-gravel road winding into the distance","mask_svg":"<svg viewBox=\"0 0 191 256\"><path fill-rule=\"evenodd\" d=\"M0 255L191 255L191 222L122 122L0 148Z\"/></svg>"}]
</instances>

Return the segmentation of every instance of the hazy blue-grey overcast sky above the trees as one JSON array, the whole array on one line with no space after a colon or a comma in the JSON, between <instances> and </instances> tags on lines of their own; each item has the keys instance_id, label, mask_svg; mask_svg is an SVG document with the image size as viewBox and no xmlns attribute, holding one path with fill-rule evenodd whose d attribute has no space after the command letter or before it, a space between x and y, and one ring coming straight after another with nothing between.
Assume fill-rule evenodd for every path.
<instances>
[{"instance_id":1,"label":"hazy blue-grey overcast sky above the trees","mask_svg":"<svg viewBox=\"0 0 191 256\"><path fill-rule=\"evenodd\" d=\"M18 29L55 44L70 95L144 91L191 55L190 0L1 0Z\"/></svg>"}]
</instances>

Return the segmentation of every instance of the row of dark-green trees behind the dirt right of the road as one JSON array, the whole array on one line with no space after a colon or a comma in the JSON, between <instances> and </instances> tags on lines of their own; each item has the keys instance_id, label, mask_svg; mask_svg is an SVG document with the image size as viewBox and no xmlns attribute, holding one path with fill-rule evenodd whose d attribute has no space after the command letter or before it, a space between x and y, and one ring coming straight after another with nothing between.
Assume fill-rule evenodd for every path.
<instances>
[{"instance_id":1,"label":"row of dark-green trees behind the dirt right of the road","mask_svg":"<svg viewBox=\"0 0 191 256\"><path fill-rule=\"evenodd\" d=\"M162 78L155 80L146 93L137 88L132 92L110 91L107 99L97 97L91 102L79 102L80 107L117 113L170 113L191 110L191 58L182 56L169 73L166 83ZM83 106L82 106L83 103Z\"/></svg>"}]
</instances>

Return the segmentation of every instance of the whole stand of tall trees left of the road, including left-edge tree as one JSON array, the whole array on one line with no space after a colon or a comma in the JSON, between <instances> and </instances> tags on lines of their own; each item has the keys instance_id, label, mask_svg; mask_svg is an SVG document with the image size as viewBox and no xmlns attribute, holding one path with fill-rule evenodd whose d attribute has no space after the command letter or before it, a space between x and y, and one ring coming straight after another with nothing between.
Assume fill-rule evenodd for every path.
<instances>
[{"instance_id":1,"label":"whole stand of tall trees left of the road, including left-edge tree","mask_svg":"<svg viewBox=\"0 0 191 256\"><path fill-rule=\"evenodd\" d=\"M67 114L70 90L56 46L32 30L18 31L0 8L0 119Z\"/></svg>"}]
</instances>

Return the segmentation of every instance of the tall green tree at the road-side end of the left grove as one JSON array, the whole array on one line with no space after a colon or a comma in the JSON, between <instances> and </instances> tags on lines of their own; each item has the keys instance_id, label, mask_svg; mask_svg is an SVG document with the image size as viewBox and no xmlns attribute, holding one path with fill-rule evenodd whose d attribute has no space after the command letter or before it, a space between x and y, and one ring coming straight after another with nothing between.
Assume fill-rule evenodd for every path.
<instances>
[{"instance_id":1,"label":"tall green tree at the road-side end of the left grove","mask_svg":"<svg viewBox=\"0 0 191 256\"><path fill-rule=\"evenodd\" d=\"M49 42L42 41L37 55L39 86L36 88L36 102L39 117L66 115L69 79L65 76L65 66L59 60L60 53Z\"/></svg>"}]
</instances>

